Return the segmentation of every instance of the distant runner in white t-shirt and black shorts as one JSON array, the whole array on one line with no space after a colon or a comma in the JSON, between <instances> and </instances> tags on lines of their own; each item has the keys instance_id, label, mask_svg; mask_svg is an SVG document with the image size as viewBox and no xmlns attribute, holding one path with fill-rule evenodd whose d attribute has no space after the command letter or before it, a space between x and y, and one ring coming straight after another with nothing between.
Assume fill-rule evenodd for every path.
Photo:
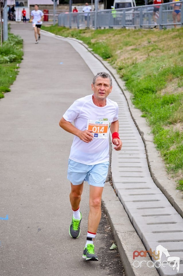
<instances>
[{"instance_id":1,"label":"distant runner in white t-shirt and black shorts","mask_svg":"<svg viewBox=\"0 0 183 276\"><path fill-rule=\"evenodd\" d=\"M36 39L36 44L38 44L38 40L41 39L40 28L42 24L42 20L44 19L44 14L39 10L39 5L34 5L34 11L31 11L31 19L32 27L34 28L34 36Z\"/></svg>"}]
</instances>

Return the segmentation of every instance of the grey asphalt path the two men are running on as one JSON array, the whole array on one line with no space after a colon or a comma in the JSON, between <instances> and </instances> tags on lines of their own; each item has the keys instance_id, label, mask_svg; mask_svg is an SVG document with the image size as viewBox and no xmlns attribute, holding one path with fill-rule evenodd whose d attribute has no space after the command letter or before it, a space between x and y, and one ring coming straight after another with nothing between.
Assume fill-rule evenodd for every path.
<instances>
[{"instance_id":1,"label":"grey asphalt path the two men are running on","mask_svg":"<svg viewBox=\"0 0 183 276\"><path fill-rule=\"evenodd\" d=\"M75 99L92 93L93 74L69 43L41 35L35 44L28 23L11 24L11 32L24 39L24 59L11 92L0 101L0 275L113 275L101 261L82 259L87 183L81 235L72 239L68 233L67 160L73 135L59 127L59 120ZM99 257L103 235L100 231L95 240Z\"/></svg>"}]
</instances>

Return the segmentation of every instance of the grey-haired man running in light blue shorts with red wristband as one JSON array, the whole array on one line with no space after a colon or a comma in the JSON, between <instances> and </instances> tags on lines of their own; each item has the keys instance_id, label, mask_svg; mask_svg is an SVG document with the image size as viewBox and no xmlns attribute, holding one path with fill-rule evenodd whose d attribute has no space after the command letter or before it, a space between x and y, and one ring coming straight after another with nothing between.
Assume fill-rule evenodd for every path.
<instances>
[{"instance_id":1,"label":"grey-haired man running in light blue shorts with red wristband","mask_svg":"<svg viewBox=\"0 0 183 276\"><path fill-rule=\"evenodd\" d=\"M70 202L73 211L69 234L80 235L82 213L79 209L83 182L89 184L89 216L85 260L98 261L94 239L101 218L102 191L109 166L109 131L115 150L121 150L119 138L118 105L108 99L112 79L106 72L98 73L92 83L93 95L77 99L64 113L59 125L74 135L68 161L67 179L71 181ZM72 124L74 122L74 125Z\"/></svg>"}]
</instances>

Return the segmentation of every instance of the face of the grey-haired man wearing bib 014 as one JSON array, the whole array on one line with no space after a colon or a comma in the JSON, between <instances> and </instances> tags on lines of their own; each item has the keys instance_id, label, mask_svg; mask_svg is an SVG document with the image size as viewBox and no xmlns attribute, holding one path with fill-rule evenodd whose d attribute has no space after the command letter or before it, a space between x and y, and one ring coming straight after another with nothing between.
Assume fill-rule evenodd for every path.
<instances>
[{"instance_id":1,"label":"face of the grey-haired man wearing bib 014","mask_svg":"<svg viewBox=\"0 0 183 276\"><path fill-rule=\"evenodd\" d=\"M92 83L92 90L96 99L105 100L112 91L112 86L110 86L108 78L98 77L96 78L95 85Z\"/></svg>"}]
</instances>

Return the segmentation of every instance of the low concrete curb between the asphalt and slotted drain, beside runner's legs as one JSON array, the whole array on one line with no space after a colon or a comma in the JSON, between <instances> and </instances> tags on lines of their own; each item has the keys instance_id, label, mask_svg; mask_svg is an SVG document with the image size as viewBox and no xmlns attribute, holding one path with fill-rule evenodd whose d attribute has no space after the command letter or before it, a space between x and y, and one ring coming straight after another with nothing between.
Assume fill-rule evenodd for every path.
<instances>
[{"instance_id":1,"label":"low concrete curb between the asphalt and slotted drain, beside runner's legs","mask_svg":"<svg viewBox=\"0 0 183 276\"><path fill-rule=\"evenodd\" d=\"M147 266L147 262L151 261L148 254L146 257L143 257L143 261L145 260L146 263L142 263L141 268L135 268L133 266L134 261L141 262L142 260L141 257L133 259L134 247L138 251L145 251L146 249L109 182L106 182L105 184L105 189L102 195L102 204L108 216L126 275L159 276L155 268L149 268ZM114 212L114 210L116 210L116 212ZM138 263L135 263L135 266L137 265Z\"/></svg>"}]
</instances>

